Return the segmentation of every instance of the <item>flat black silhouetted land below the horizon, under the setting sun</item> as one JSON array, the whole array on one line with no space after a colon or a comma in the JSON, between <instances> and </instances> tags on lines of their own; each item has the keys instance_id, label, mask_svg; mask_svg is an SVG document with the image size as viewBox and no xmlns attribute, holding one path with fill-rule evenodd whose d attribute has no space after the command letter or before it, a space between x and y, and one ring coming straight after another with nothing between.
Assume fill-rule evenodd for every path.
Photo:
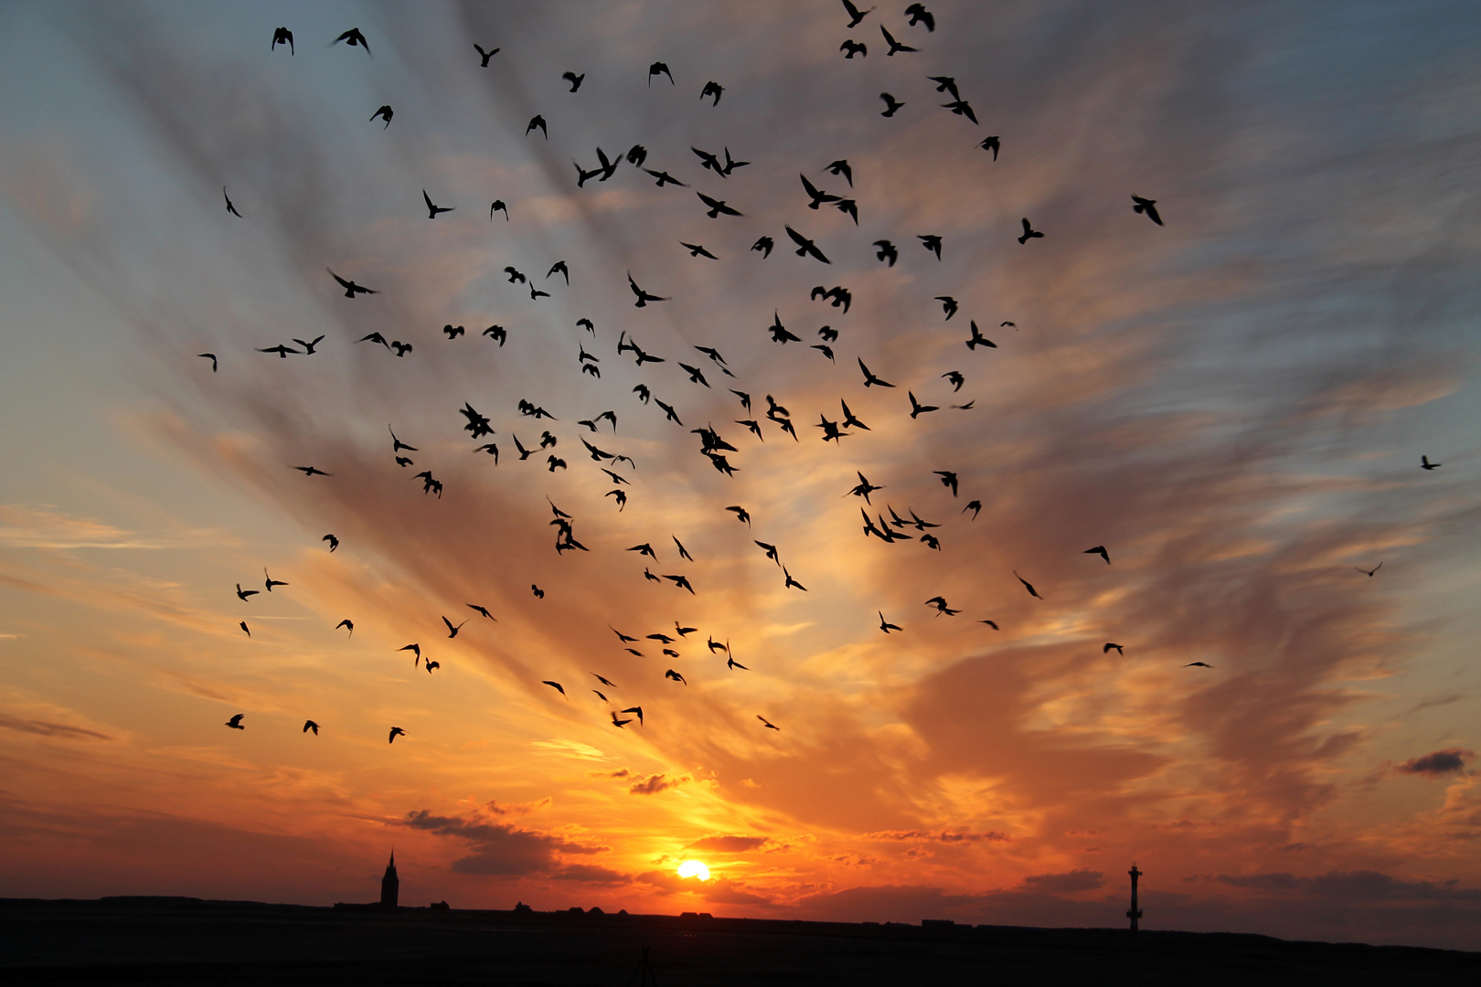
<instances>
[{"instance_id":1,"label":"flat black silhouetted land below the horizon, under the setting sun","mask_svg":"<svg viewBox=\"0 0 1481 987\"><path fill-rule=\"evenodd\" d=\"M1260 935L194 898L0 900L19 984L1481 984L1481 953Z\"/></svg>"}]
</instances>

